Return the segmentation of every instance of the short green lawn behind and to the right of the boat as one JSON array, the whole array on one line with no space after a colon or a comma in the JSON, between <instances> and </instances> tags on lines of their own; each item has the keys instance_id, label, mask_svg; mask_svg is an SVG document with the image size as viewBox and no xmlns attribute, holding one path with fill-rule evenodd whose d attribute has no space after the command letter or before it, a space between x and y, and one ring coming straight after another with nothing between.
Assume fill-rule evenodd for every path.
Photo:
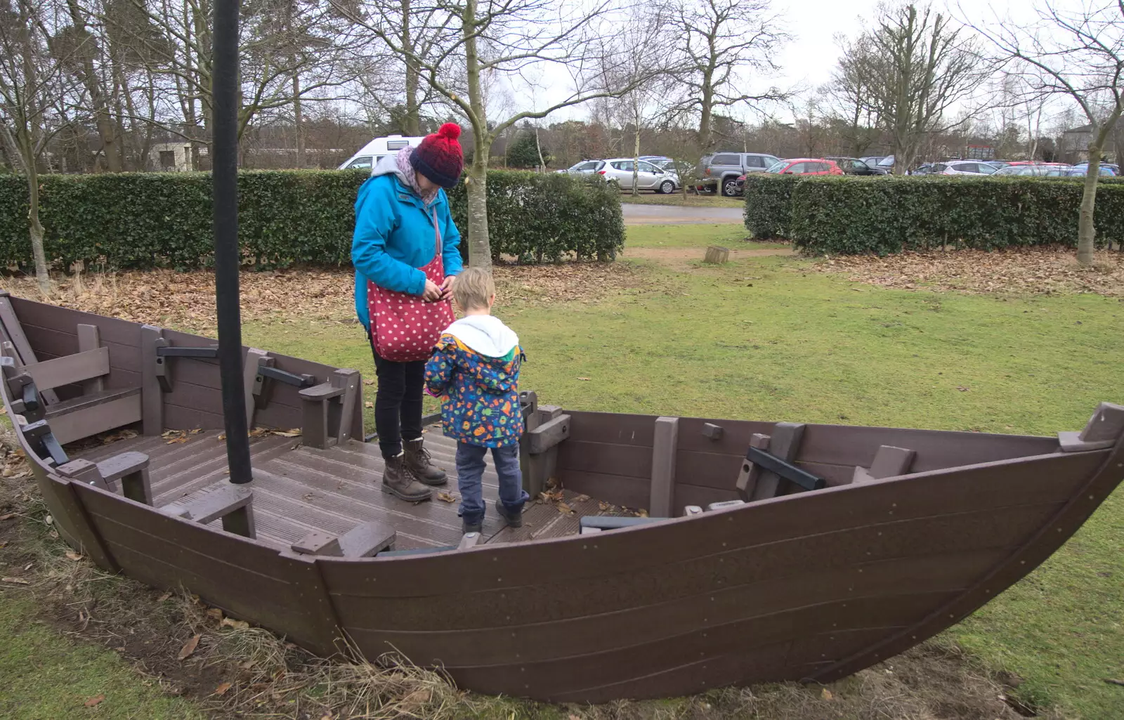
<instances>
[{"instance_id":1,"label":"short green lawn behind and to the right of the boat","mask_svg":"<svg viewBox=\"0 0 1124 720\"><path fill-rule=\"evenodd\" d=\"M736 226L634 227L628 249L731 248ZM643 253L638 253L643 255ZM628 259L647 282L600 300L502 304L522 384L573 409L1051 435L1122 401L1124 303L1099 295L886 290L797 257L710 267ZM357 326L250 323L246 341L359 367ZM370 393L369 393L370 394ZM370 411L369 411L370 412ZM1067 716L1120 717L1124 494L1066 548L950 637L1022 696Z\"/></svg>"}]
</instances>

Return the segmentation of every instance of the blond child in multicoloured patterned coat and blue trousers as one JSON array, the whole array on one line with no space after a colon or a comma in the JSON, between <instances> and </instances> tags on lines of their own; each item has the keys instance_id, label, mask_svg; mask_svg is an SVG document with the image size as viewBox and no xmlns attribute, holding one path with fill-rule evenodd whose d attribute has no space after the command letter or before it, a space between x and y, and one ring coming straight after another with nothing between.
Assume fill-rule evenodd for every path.
<instances>
[{"instance_id":1,"label":"blond child in multicoloured patterned coat and blue trousers","mask_svg":"<svg viewBox=\"0 0 1124 720\"><path fill-rule=\"evenodd\" d=\"M519 472L519 338L491 316L496 285L491 273L470 267L456 277L453 300L464 318L448 326L425 366L426 391L442 399L445 436L455 438L461 519L465 532L479 532L484 519L482 477L491 448L499 475L496 510L513 528L523 525Z\"/></svg>"}]
</instances>

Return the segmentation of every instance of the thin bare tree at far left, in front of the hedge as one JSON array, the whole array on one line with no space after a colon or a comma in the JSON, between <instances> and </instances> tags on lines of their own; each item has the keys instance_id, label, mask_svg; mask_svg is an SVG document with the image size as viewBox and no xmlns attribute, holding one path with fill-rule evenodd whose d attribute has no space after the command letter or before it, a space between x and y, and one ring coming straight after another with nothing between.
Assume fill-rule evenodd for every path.
<instances>
[{"instance_id":1,"label":"thin bare tree at far left, in front of the hedge","mask_svg":"<svg viewBox=\"0 0 1124 720\"><path fill-rule=\"evenodd\" d=\"M51 53L53 33L42 0L0 0L0 137L27 179L28 233L39 291L51 295L51 275L39 221L39 161L62 129L60 103L71 95L62 60Z\"/></svg>"}]
</instances>

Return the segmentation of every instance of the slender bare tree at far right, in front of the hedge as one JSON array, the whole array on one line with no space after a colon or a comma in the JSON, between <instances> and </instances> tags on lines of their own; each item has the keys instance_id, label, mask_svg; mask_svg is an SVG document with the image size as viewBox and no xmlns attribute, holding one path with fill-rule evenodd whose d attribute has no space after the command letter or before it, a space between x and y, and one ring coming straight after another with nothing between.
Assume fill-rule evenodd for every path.
<instances>
[{"instance_id":1,"label":"slender bare tree at far right, in front of the hedge","mask_svg":"<svg viewBox=\"0 0 1124 720\"><path fill-rule=\"evenodd\" d=\"M1089 170L1077 231L1077 262L1093 264L1100 155L1124 111L1124 0L1084 0L1061 10L1053 0L1037 9L1032 27L1014 22L973 26L991 40L997 60L1023 75L1031 97L1064 97L1089 121Z\"/></svg>"}]
</instances>

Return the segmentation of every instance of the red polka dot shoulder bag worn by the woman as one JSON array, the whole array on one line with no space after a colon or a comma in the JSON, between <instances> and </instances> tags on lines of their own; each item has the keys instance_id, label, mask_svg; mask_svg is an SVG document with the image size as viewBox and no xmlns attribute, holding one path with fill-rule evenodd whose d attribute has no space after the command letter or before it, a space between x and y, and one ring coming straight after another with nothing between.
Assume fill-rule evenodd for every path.
<instances>
[{"instance_id":1,"label":"red polka dot shoulder bag worn by the woman","mask_svg":"<svg viewBox=\"0 0 1124 720\"><path fill-rule=\"evenodd\" d=\"M424 267L427 280L441 284L445 280L442 259L441 229L434 215L436 253ZM395 292L366 282L368 310L371 313L371 344L383 359L409 363L428 359L441 334L456 319L447 298L428 302L419 295Z\"/></svg>"}]
</instances>

